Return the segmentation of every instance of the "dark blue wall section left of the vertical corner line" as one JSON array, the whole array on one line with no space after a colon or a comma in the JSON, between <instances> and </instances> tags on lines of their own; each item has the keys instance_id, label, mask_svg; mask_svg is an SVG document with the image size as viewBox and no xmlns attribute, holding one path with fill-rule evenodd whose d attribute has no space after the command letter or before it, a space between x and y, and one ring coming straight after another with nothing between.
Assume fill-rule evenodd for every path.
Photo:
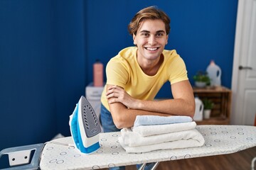
<instances>
[{"instance_id":1,"label":"dark blue wall section left of the vertical corner line","mask_svg":"<svg viewBox=\"0 0 256 170\"><path fill-rule=\"evenodd\" d=\"M0 149L70 135L84 94L81 1L0 1Z\"/></svg>"}]
</instances>

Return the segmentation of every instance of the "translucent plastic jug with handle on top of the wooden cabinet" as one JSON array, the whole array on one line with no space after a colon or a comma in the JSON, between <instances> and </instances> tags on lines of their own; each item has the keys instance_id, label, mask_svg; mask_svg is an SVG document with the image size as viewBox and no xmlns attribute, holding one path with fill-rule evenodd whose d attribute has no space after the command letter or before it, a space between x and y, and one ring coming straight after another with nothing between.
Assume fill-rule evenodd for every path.
<instances>
[{"instance_id":1,"label":"translucent plastic jug with handle on top of the wooden cabinet","mask_svg":"<svg viewBox=\"0 0 256 170\"><path fill-rule=\"evenodd\" d=\"M221 85L221 69L215 64L213 60L210 61L209 66L206 69L208 76L210 78L210 86L220 86Z\"/></svg>"}]
</instances>

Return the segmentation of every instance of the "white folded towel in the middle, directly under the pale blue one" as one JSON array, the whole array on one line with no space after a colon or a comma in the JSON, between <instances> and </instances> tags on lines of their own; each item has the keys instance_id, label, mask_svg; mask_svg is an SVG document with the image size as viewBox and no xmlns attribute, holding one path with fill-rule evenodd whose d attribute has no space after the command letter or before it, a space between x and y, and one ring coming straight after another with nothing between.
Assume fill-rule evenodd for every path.
<instances>
[{"instance_id":1,"label":"white folded towel in the middle, directly under the pale blue one","mask_svg":"<svg viewBox=\"0 0 256 170\"><path fill-rule=\"evenodd\" d=\"M196 122L189 123L174 123L167 125L141 125L137 127L132 127L132 132L137 132L142 137L150 135L160 135L170 132L179 132L183 130L191 130L196 128Z\"/></svg>"}]
</instances>

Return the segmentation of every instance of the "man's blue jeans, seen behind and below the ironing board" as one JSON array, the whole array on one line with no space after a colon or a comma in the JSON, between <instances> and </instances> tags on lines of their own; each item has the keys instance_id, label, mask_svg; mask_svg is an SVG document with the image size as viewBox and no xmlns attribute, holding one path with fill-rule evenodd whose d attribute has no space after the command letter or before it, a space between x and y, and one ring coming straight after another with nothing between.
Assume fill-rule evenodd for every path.
<instances>
[{"instance_id":1,"label":"man's blue jeans, seen behind and below the ironing board","mask_svg":"<svg viewBox=\"0 0 256 170\"><path fill-rule=\"evenodd\" d=\"M107 111L107 108L101 104L100 106L100 124L102 125L104 132L118 132L118 129L113 122L112 115L110 111ZM137 169L139 169L141 165L137 164ZM154 163L146 164L144 170L151 169L154 166ZM111 170L124 170L125 166L117 166L110 168Z\"/></svg>"}]
</instances>

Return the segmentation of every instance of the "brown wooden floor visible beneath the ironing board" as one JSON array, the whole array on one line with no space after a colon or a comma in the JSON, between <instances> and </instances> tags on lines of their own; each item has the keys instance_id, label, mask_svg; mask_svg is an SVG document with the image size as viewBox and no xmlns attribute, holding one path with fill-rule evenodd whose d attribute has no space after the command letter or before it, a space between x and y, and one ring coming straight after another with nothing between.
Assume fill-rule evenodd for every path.
<instances>
[{"instance_id":1,"label":"brown wooden floor visible beneath the ironing board","mask_svg":"<svg viewBox=\"0 0 256 170\"><path fill-rule=\"evenodd\" d=\"M250 170L251 162L254 157L256 157L256 147L245 149L234 154L160 162L156 170ZM126 170L134 169L136 169L134 165L126 167Z\"/></svg>"}]
</instances>

